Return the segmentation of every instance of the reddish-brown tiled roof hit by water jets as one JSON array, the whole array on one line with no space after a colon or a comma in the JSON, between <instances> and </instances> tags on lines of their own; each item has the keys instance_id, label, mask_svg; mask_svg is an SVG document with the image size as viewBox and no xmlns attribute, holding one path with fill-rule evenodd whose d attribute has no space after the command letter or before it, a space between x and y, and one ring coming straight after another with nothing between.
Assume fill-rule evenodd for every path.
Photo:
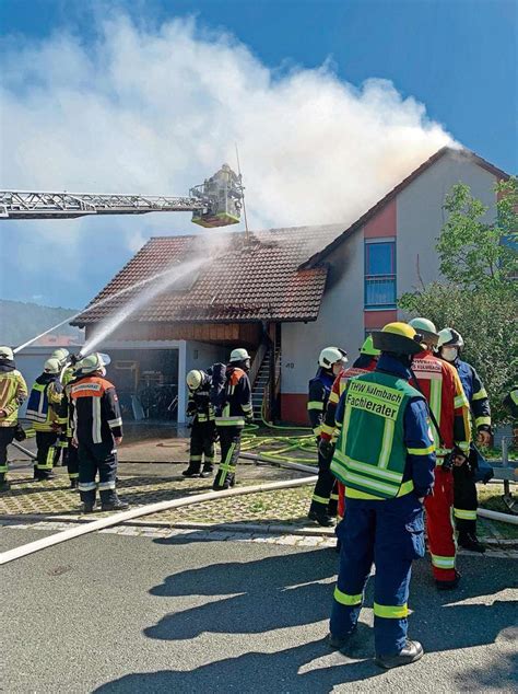
<instances>
[{"instance_id":1,"label":"reddish-brown tiled roof hit by water jets","mask_svg":"<svg viewBox=\"0 0 518 694\"><path fill-rule=\"evenodd\" d=\"M343 231L343 224L273 229L250 234L225 234L225 250L202 266L198 277L156 296L129 316L139 322L315 321L327 278L327 267L297 269L311 253ZM210 233L210 232L209 232ZM221 236L223 238L223 236ZM136 282L167 270L172 264L208 254L211 238L151 239L93 299L93 305ZM151 282L150 282L151 286ZM74 325L97 323L127 304L142 288L89 309Z\"/></svg>"}]
</instances>

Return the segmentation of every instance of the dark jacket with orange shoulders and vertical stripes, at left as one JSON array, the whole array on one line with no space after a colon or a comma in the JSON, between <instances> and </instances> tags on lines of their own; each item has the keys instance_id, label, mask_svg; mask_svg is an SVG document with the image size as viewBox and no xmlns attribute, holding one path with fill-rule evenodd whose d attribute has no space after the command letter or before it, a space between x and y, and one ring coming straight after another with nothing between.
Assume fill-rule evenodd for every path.
<instances>
[{"instance_id":1,"label":"dark jacket with orange shoulders and vertical stripes, at left","mask_svg":"<svg viewBox=\"0 0 518 694\"><path fill-rule=\"evenodd\" d=\"M101 375L72 383L73 429L79 443L113 443L122 436L122 418L115 385Z\"/></svg>"}]
</instances>

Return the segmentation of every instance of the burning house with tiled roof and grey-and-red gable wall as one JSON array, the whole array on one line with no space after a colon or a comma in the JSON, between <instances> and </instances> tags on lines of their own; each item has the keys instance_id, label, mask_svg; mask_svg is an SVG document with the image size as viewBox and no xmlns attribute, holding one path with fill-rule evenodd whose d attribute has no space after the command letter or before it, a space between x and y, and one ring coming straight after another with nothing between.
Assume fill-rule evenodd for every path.
<instances>
[{"instance_id":1,"label":"burning house with tiled roof and grey-and-red gable wall","mask_svg":"<svg viewBox=\"0 0 518 694\"><path fill-rule=\"evenodd\" d=\"M343 347L352 361L369 331L398 317L400 294L438 278L435 243L451 186L468 184L491 219L495 184L507 177L472 152L443 148L348 229L227 235L216 259L130 314L98 347L113 358L108 373L127 416L184 421L187 371L244 346L254 356L256 415L262 408L267 418L306 424L320 349ZM197 236L151 239L73 323L86 327L86 344L137 291L110 296L203 254L198 244Z\"/></svg>"}]
</instances>

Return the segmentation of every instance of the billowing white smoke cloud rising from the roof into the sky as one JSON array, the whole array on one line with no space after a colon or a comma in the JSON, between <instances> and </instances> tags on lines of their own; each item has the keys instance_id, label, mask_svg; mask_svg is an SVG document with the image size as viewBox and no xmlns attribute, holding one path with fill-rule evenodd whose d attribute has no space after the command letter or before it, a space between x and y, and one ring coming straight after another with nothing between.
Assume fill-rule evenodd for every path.
<instances>
[{"instance_id":1,"label":"billowing white smoke cloud rising from the roof into the sky","mask_svg":"<svg viewBox=\"0 0 518 694\"><path fill-rule=\"evenodd\" d=\"M328 63L270 70L192 19L146 28L113 15L98 30L86 46L57 33L4 47L2 187L183 195L235 166L237 142L252 228L345 225L451 142L386 80L355 88ZM59 254L82 301L150 235L197 231L179 213L16 227L25 281Z\"/></svg>"}]
</instances>

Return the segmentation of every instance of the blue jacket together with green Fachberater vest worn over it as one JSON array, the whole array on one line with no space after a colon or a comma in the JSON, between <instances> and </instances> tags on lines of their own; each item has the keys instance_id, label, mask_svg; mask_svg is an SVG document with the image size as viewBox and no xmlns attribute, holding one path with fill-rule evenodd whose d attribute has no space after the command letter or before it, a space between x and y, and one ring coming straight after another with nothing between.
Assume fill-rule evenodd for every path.
<instances>
[{"instance_id":1,"label":"blue jacket together with green Fachberater vest worn over it","mask_svg":"<svg viewBox=\"0 0 518 694\"><path fill-rule=\"evenodd\" d=\"M381 355L375 371L346 383L331 462L346 497L381 500L414 491L421 498L432 491L435 443L428 408L409 378L397 359Z\"/></svg>"}]
</instances>

